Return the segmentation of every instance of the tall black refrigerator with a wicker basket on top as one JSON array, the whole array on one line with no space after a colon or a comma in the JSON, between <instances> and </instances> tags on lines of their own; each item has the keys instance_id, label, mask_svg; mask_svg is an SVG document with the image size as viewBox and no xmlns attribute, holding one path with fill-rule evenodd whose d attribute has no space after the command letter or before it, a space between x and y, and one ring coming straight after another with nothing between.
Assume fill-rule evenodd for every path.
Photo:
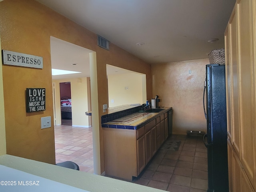
<instances>
[{"instance_id":1,"label":"tall black refrigerator with a wicker basket on top","mask_svg":"<svg viewBox=\"0 0 256 192\"><path fill-rule=\"evenodd\" d=\"M206 94L206 96L205 96ZM206 65L204 114L207 134L204 144L208 151L207 192L228 192L228 152L225 66ZM206 105L205 105L206 103Z\"/></svg>"}]
</instances>

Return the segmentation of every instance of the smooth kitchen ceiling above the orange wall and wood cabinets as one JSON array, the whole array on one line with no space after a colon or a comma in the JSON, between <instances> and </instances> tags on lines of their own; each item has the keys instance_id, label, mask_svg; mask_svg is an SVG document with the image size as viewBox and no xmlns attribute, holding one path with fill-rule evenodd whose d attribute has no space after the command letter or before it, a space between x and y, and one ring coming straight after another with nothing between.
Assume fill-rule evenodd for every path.
<instances>
[{"instance_id":1,"label":"smooth kitchen ceiling above the orange wall and wood cabinets","mask_svg":"<svg viewBox=\"0 0 256 192\"><path fill-rule=\"evenodd\" d=\"M150 64L224 48L236 0L37 0ZM218 38L214 43L207 42ZM144 45L138 46L137 43Z\"/></svg>"}]
</instances>

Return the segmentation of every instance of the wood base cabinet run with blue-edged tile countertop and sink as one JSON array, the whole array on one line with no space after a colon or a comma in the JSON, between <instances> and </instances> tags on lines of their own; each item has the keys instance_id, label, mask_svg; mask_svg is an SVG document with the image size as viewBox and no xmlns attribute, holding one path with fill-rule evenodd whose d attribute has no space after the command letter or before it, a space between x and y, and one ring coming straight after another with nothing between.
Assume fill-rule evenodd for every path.
<instances>
[{"instance_id":1,"label":"wood base cabinet run with blue-edged tile countertop and sink","mask_svg":"<svg viewBox=\"0 0 256 192\"><path fill-rule=\"evenodd\" d=\"M138 109L120 118L117 114L102 118L106 176L124 180L137 177L168 138L168 114L172 107L164 107L160 112Z\"/></svg>"}]
</instances>

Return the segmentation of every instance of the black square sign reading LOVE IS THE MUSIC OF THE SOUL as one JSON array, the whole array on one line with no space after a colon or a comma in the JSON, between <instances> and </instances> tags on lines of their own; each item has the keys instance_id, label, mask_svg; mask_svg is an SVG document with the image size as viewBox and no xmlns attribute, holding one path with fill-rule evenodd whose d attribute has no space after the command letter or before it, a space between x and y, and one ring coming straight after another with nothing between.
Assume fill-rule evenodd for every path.
<instances>
[{"instance_id":1,"label":"black square sign reading LOVE IS THE MUSIC OF THE SOUL","mask_svg":"<svg viewBox=\"0 0 256 192\"><path fill-rule=\"evenodd\" d=\"M26 89L26 112L45 110L45 88Z\"/></svg>"}]
</instances>

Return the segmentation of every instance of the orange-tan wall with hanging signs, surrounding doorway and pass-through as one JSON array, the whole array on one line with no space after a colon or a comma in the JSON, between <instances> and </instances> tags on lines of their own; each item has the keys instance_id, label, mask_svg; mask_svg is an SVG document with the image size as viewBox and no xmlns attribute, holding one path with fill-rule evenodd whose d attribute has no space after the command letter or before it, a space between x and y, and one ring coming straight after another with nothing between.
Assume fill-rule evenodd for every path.
<instances>
[{"instance_id":1,"label":"orange-tan wall with hanging signs, surrounding doorway and pass-through","mask_svg":"<svg viewBox=\"0 0 256 192\"><path fill-rule=\"evenodd\" d=\"M34 0L1 1L0 26L3 50L42 56L44 62L43 69L2 66L7 154L55 164L53 118L51 128L40 128L41 117L53 117L50 36L96 52L99 116L106 114L102 105L108 103L106 64L146 74L147 95L152 95L150 64L114 44L109 51L100 48L96 34ZM26 113L26 88L46 88L45 111ZM103 131L94 128L99 132L103 172Z\"/></svg>"}]
</instances>

